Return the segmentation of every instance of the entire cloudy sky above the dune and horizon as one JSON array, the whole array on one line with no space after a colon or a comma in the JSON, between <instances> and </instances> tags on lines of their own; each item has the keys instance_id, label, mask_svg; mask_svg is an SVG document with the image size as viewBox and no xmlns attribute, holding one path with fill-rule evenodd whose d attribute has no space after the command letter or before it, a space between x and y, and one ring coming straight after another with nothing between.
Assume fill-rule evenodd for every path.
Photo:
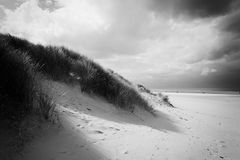
<instances>
[{"instance_id":1,"label":"entire cloudy sky above the dune and horizon","mask_svg":"<svg viewBox=\"0 0 240 160\"><path fill-rule=\"evenodd\" d=\"M240 90L238 0L0 0L0 32L149 88Z\"/></svg>"}]
</instances>

